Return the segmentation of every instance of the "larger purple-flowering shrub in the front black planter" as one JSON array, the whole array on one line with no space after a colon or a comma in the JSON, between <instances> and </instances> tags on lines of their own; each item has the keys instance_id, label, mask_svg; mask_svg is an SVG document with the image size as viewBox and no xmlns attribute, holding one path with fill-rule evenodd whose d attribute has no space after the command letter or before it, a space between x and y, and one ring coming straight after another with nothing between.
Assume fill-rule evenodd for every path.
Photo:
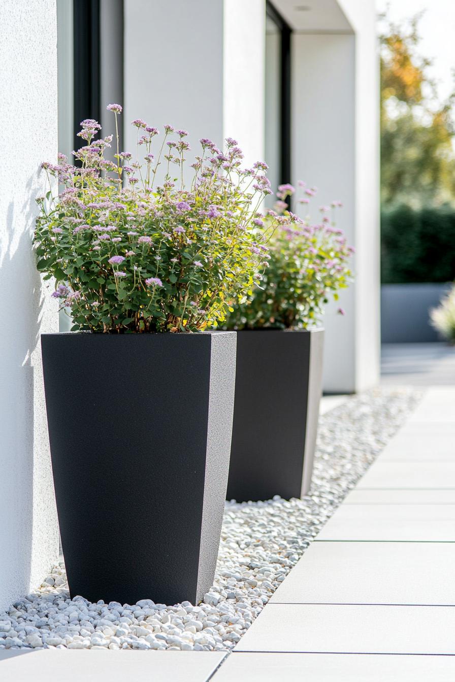
<instances>
[{"instance_id":1,"label":"larger purple-flowering shrub in the front black planter","mask_svg":"<svg viewBox=\"0 0 455 682\"><path fill-rule=\"evenodd\" d=\"M119 104L108 110L117 116ZM98 138L100 124L81 123L86 145L75 152L79 166L59 155L59 165L42 164L63 185L40 199L35 248L38 270L54 277L53 296L70 308L73 330L101 332L199 331L224 321L230 299L246 295L267 261L267 231L257 208L270 194L266 164L242 169L237 142L222 153L201 140L184 185L185 130L164 126L164 139L136 119L136 160L119 152L104 159L113 136ZM142 162L138 160L141 156ZM154 188L160 164L162 186ZM173 171L178 179L172 177ZM49 178L50 179L50 178ZM268 219L268 228L288 222Z\"/></svg>"}]
</instances>

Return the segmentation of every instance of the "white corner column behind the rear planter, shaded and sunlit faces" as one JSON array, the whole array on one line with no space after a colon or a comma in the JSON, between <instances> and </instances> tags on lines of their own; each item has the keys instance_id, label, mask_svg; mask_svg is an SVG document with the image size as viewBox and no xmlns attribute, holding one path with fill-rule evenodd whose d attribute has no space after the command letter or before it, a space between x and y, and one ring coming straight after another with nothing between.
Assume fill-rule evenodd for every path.
<instances>
[{"instance_id":1,"label":"white corner column behind the rear planter, shaded and sunlit faces","mask_svg":"<svg viewBox=\"0 0 455 682\"><path fill-rule=\"evenodd\" d=\"M340 3L341 4L341 3ZM379 379L379 121L374 3L344 0L353 31L293 35L293 181L319 188L313 211L344 204L338 226L355 247L355 282L327 306L324 390ZM351 16L348 16L350 19ZM336 310L343 308L345 316Z\"/></svg>"}]
</instances>

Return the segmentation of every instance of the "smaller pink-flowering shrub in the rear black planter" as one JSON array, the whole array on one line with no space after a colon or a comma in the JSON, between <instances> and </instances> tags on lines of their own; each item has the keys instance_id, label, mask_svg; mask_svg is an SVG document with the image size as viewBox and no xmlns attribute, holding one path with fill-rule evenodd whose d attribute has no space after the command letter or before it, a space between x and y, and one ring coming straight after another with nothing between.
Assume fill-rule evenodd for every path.
<instances>
[{"instance_id":1,"label":"smaller pink-flowering shrub in the rear black planter","mask_svg":"<svg viewBox=\"0 0 455 682\"><path fill-rule=\"evenodd\" d=\"M306 205L316 194L315 188L304 188ZM353 248L329 214L341 206L339 201L321 207L321 220L312 224L310 218L302 220L287 210L286 199L295 192L291 185L278 188L276 211L284 213L292 222L280 224L271 233L269 267L261 277L259 286L253 285L246 297L229 314L226 327L230 329L302 329L317 322L325 303L332 293L347 286L351 271L349 257ZM276 220L276 211L268 211L265 224ZM342 308L338 309L344 314Z\"/></svg>"}]
</instances>

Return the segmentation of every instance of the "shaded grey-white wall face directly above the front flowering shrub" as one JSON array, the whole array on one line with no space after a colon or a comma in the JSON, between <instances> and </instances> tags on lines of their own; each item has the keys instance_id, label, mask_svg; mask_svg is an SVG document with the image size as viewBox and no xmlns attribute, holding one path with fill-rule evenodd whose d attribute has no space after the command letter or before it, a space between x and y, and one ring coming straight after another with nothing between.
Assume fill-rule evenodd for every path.
<instances>
[{"instance_id":1,"label":"shaded grey-white wall face directly above the front flowering shrub","mask_svg":"<svg viewBox=\"0 0 455 682\"><path fill-rule=\"evenodd\" d=\"M168 0L165 5L125 0L124 147L136 157L133 119L144 119L160 132L169 123L190 133L190 160L199 153L194 150L201 137L222 144L222 0ZM192 177L192 168L186 177Z\"/></svg>"}]
</instances>

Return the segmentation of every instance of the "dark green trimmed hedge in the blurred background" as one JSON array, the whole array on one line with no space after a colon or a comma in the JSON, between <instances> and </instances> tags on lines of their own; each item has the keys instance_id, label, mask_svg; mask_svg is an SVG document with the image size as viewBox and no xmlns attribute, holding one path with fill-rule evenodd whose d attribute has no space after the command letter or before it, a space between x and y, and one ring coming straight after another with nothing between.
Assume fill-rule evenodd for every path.
<instances>
[{"instance_id":1,"label":"dark green trimmed hedge in the blurred background","mask_svg":"<svg viewBox=\"0 0 455 682\"><path fill-rule=\"evenodd\" d=\"M381 280L451 282L455 279L455 210L414 210L409 206L381 213Z\"/></svg>"}]
</instances>

